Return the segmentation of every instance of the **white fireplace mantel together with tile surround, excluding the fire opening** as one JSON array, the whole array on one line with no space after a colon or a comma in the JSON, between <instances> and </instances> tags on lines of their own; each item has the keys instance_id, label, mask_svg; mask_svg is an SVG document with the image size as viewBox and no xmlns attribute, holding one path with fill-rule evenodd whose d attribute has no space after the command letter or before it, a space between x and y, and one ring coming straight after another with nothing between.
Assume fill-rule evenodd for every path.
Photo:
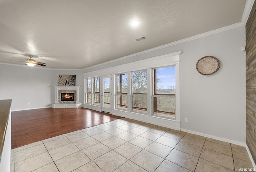
<instances>
[{"instance_id":1,"label":"white fireplace mantel together with tile surround, excluding the fire opening","mask_svg":"<svg viewBox=\"0 0 256 172\"><path fill-rule=\"evenodd\" d=\"M80 108L82 103L79 102L80 86L54 86L55 87L55 103L52 108ZM61 93L74 93L75 101L61 101Z\"/></svg>"}]
</instances>

